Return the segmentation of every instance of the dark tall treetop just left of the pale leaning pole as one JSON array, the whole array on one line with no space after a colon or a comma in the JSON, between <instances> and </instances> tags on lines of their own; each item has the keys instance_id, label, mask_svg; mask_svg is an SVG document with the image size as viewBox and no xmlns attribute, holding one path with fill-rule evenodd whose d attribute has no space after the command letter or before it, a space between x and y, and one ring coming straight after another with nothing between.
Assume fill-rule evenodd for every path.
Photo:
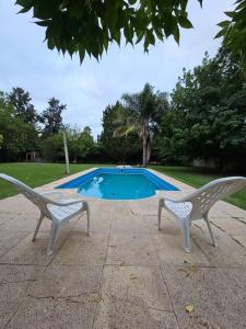
<instances>
[{"instance_id":1,"label":"dark tall treetop just left of the pale leaning pole","mask_svg":"<svg viewBox=\"0 0 246 329\"><path fill-rule=\"evenodd\" d=\"M62 128L62 112L67 105L60 104L60 101L51 98L48 101L48 107L40 114L39 121L44 124L43 137L58 134Z\"/></svg>"}]
</instances>

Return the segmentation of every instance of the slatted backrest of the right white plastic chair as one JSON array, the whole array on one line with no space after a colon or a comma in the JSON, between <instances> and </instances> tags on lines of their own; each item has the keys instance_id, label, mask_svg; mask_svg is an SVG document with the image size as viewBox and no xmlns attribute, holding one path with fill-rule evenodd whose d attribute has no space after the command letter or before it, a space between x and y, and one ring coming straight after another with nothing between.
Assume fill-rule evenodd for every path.
<instances>
[{"instance_id":1,"label":"slatted backrest of the right white plastic chair","mask_svg":"<svg viewBox=\"0 0 246 329\"><path fill-rule=\"evenodd\" d=\"M199 218L206 215L219 200L222 200L246 185L246 178L230 177L214 180L190 195L184 197L183 202L192 203L191 217Z\"/></svg>"}]
</instances>

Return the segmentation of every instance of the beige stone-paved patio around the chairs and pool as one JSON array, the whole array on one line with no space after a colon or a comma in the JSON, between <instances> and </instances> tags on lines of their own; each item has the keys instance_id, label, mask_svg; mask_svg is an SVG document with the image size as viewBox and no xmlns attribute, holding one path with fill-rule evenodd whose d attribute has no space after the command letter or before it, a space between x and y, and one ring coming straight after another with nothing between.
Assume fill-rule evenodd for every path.
<instances>
[{"instance_id":1,"label":"beige stone-paved patio around the chairs and pool","mask_svg":"<svg viewBox=\"0 0 246 329\"><path fill-rule=\"evenodd\" d=\"M168 195L192 190L164 179L181 189ZM91 236L75 218L47 257L50 222L32 242L38 211L21 195L0 201L0 328L246 328L245 211L218 203L218 248L196 222L187 254L165 211L157 230L157 196L89 202Z\"/></svg>"}]
</instances>

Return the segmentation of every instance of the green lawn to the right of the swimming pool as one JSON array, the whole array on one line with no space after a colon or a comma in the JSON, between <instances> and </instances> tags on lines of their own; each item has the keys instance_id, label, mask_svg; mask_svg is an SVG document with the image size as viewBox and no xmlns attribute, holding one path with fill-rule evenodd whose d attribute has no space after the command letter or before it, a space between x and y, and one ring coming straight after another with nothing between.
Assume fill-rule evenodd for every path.
<instances>
[{"instance_id":1,"label":"green lawn to the right of the swimming pool","mask_svg":"<svg viewBox=\"0 0 246 329\"><path fill-rule=\"evenodd\" d=\"M201 168L163 166L150 166L150 168L173 177L174 179L177 179L180 182L184 182L194 188L200 188L212 180L223 177L214 173L211 170ZM246 211L246 188L229 196L225 201Z\"/></svg>"}]
</instances>

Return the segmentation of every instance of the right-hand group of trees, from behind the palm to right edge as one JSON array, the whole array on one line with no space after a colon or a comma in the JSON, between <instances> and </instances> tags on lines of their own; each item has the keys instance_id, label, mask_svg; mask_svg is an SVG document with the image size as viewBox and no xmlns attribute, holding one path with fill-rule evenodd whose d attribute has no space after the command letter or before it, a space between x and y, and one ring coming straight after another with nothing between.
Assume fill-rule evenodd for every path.
<instances>
[{"instance_id":1,"label":"right-hand group of trees, from behind the palm to right edge","mask_svg":"<svg viewBox=\"0 0 246 329\"><path fill-rule=\"evenodd\" d=\"M139 93L122 95L104 111L101 141L112 159L121 148L121 157L127 160L134 154L143 166L149 160L187 166L199 160L220 171L245 171L242 58L221 47L213 58L206 54L200 66L184 69L169 97L148 83Z\"/></svg>"}]
</instances>

